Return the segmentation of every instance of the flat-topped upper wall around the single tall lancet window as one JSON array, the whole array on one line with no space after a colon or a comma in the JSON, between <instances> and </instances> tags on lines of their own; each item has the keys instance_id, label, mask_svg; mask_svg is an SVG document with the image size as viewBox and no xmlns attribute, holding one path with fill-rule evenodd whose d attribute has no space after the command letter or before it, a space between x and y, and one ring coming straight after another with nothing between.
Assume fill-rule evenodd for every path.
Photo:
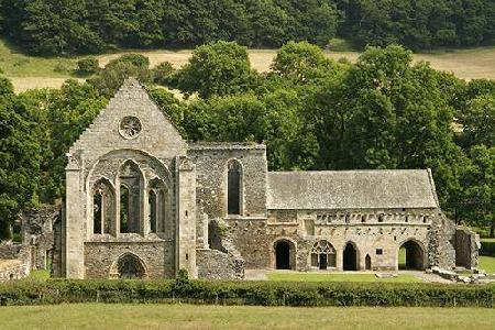
<instances>
[{"instance_id":1,"label":"flat-topped upper wall around the single tall lancet window","mask_svg":"<svg viewBox=\"0 0 495 330\"><path fill-rule=\"evenodd\" d=\"M227 164L230 160L237 160L242 166L242 216L266 216L264 145L190 144L188 156L196 164L197 198L210 219L227 216Z\"/></svg>"}]
</instances>

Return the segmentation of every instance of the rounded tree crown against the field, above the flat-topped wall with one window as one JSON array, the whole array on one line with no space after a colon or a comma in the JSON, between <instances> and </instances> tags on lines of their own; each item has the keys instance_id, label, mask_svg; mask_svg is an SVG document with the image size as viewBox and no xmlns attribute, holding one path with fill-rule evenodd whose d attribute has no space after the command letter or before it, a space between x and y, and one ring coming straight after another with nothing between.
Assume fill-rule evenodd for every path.
<instances>
[{"instance_id":1,"label":"rounded tree crown against the field, above the flat-topped wall with one window","mask_svg":"<svg viewBox=\"0 0 495 330\"><path fill-rule=\"evenodd\" d=\"M213 42L197 47L177 73L177 87L201 98L228 96L251 90L256 84L248 50L233 42Z\"/></svg>"}]
</instances>

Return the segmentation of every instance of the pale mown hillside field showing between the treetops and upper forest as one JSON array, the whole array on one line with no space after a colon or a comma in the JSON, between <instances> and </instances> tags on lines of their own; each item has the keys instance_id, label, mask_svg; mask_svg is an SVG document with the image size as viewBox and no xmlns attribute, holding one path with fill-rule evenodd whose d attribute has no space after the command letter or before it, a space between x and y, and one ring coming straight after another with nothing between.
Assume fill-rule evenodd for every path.
<instances>
[{"instance_id":1,"label":"pale mown hillside field showing between the treetops and upper forest","mask_svg":"<svg viewBox=\"0 0 495 330\"><path fill-rule=\"evenodd\" d=\"M97 57L100 66L105 66L109 61L130 52L103 54ZM176 68L187 63L191 55L190 50L177 52L138 50L132 52L147 56L152 66L162 62L169 62ZM326 51L324 53L328 57L334 59L345 57L355 61L359 56L356 52ZM266 72L270 69L276 50L250 50L249 54L252 66L258 72ZM58 88L65 79L82 79L82 77L73 74L76 62L80 58L82 57L43 58L26 56L10 47L4 41L0 41L0 68L12 79L16 91L43 87ZM430 62L432 67L452 72L464 79L495 79L495 47L416 54L415 59Z\"/></svg>"}]
</instances>

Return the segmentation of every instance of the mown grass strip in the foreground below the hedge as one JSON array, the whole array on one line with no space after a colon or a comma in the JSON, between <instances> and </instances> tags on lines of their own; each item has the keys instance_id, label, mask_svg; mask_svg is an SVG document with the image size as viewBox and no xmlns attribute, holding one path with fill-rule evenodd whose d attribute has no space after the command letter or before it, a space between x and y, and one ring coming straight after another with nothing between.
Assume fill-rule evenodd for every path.
<instances>
[{"instance_id":1,"label":"mown grass strip in the foreground below the hedge","mask_svg":"<svg viewBox=\"0 0 495 330\"><path fill-rule=\"evenodd\" d=\"M57 305L0 308L2 329L493 329L495 309Z\"/></svg>"}]
</instances>

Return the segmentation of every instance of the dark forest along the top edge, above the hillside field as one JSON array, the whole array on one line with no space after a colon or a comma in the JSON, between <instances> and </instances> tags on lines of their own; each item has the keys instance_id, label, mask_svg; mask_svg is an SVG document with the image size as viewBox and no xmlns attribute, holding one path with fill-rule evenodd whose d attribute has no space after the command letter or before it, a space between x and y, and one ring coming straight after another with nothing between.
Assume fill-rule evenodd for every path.
<instances>
[{"instance_id":1,"label":"dark forest along the top edge, above the hillside field","mask_svg":"<svg viewBox=\"0 0 495 330\"><path fill-rule=\"evenodd\" d=\"M411 50L495 41L493 0L0 0L0 32L32 54L288 41ZM330 43L331 47L331 43Z\"/></svg>"}]
</instances>

